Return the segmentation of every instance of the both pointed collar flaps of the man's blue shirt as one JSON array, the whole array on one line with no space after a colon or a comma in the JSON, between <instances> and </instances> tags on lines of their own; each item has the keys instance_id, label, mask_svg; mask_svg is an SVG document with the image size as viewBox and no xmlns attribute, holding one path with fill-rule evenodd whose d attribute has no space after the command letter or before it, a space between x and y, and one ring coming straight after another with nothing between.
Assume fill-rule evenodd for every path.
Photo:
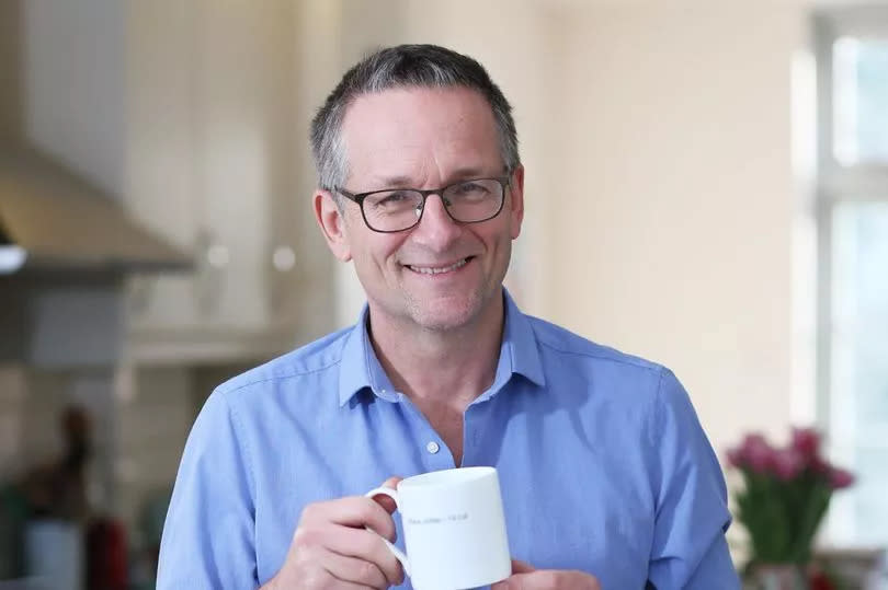
<instances>
[{"instance_id":1,"label":"both pointed collar flaps of the man's blue shirt","mask_svg":"<svg viewBox=\"0 0 888 590\"><path fill-rule=\"evenodd\" d=\"M478 401L496 394L519 373L539 386L546 384L543 361L536 343L531 321L519 310L512 296L503 288L505 309L505 328L503 329L500 358L497 363L497 377L493 385ZM395 391L388 379L367 334L369 310L364 304L357 323L348 334L342 347L339 368L339 404L344 406L363 390L371 390L374 395L388 402L397 402L400 394Z\"/></svg>"}]
</instances>

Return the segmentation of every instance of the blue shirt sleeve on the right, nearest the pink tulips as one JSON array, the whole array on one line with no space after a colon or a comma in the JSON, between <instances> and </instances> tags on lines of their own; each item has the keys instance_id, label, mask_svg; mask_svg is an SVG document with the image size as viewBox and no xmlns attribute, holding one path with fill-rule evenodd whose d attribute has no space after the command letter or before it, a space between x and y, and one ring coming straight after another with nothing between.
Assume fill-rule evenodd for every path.
<instances>
[{"instance_id":1,"label":"blue shirt sleeve on the right, nearest the pink tulips","mask_svg":"<svg viewBox=\"0 0 888 590\"><path fill-rule=\"evenodd\" d=\"M650 583L658 590L739 589L725 540L731 522L725 477L687 393L665 369L650 431L657 499Z\"/></svg>"}]
</instances>

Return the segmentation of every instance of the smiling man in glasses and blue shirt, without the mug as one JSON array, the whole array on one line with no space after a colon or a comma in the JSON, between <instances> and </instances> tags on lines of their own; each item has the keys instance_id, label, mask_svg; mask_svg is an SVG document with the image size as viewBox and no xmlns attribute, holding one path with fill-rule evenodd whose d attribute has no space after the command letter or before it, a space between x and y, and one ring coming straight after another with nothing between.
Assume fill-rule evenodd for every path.
<instances>
[{"instance_id":1,"label":"smiling man in glasses and blue shirt, without the mug","mask_svg":"<svg viewBox=\"0 0 888 590\"><path fill-rule=\"evenodd\" d=\"M209 397L160 588L410 588L372 532L395 540L394 507L362 495L460 465L499 470L516 560L494 588L738 588L724 478L675 377L503 290L524 169L483 68L435 46L378 51L311 140L318 223L367 306Z\"/></svg>"}]
</instances>

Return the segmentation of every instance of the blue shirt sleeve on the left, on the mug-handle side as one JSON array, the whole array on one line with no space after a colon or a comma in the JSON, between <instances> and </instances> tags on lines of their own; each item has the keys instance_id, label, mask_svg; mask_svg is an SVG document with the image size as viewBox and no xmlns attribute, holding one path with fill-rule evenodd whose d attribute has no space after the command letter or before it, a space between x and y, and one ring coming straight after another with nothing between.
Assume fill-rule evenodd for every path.
<instances>
[{"instance_id":1,"label":"blue shirt sleeve on the left, on the mug-handle side","mask_svg":"<svg viewBox=\"0 0 888 590\"><path fill-rule=\"evenodd\" d=\"M191 430L160 543L157 588L257 588L253 482L237 416L209 396Z\"/></svg>"}]
</instances>

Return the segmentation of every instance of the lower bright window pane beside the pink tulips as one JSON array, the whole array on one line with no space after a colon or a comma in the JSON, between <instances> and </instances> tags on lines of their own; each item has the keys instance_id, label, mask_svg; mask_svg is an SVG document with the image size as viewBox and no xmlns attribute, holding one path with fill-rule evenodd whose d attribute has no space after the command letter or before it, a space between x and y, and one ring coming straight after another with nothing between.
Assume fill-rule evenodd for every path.
<instances>
[{"instance_id":1,"label":"lower bright window pane beside the pink tulips","mask_svg":"<svg viewBox=\"0 0 888 590\"><path fill-rule=\"evenodd\" d=\"M833 235L831 442L858 482L836 497L831 530L846 542L886 543L888 203L836 206Z\"/></svg>"}]
</instances>

